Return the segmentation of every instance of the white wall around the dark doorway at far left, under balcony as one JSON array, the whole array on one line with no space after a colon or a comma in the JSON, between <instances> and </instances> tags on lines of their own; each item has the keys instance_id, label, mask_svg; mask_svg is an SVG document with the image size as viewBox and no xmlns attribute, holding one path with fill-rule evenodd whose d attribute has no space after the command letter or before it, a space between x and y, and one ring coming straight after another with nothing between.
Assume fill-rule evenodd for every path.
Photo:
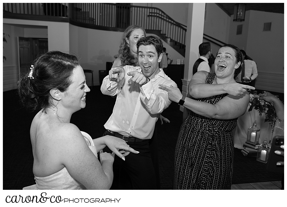
<instances>
[{"instance_id":1,"label":"white wall around the dark doorway at far left, under balcony","mask_svg":"<svg viewBox=\"0 0 287 207\"><path fill-rule=\"evenodd\" d=\"M30 25L40 26L31 28ZM48 29L43 28L47 27ZM17 88L19 80L17 37L48 38L48 49L69 52L69 23L33 21L24 19L3 19L3 32L10 35L3 43L3 91Z\"/></svg>"}]
</instances>

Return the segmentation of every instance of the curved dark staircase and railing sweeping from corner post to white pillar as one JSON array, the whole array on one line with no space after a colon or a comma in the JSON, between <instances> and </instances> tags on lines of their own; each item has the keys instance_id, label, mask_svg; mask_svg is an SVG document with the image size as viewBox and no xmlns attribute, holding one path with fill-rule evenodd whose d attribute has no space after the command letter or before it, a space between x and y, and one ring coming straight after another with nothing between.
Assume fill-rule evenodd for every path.
<instances>
[{"instance_id":1,"label":"curved dark staircase and railing sweeping from corner post to white pillar","mask_svg":"<svg viewBox=\"0 0 287 207\"><path fill-rule=\"evenodd\" d=\"M69 7L71 24L112 31L140 25L185 56L186 27L161 9L113 3L70 3Z\"/></svg>"}]
</instances>

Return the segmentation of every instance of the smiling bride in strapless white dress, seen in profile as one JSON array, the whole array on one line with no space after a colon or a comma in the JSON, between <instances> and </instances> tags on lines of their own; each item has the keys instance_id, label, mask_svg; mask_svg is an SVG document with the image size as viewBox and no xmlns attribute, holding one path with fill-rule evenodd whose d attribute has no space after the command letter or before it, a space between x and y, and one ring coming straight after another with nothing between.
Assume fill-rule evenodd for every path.
<instances>
[{"instance_id":1,"label":"smiling bride in strapless white dress, seen in profile","mask_svg":"<svg viewBox=\"0 0 287 207\"><path fill-rule=\"evenodd\" d=\"M70 123L71 115L85 108L89 91L77 57L59 51L39 56L20 78L22 103L40 109L30 128L36 184L23 189L109 189L115 154L125 160L130 152L139 153L122 139L92 139ZM101 151L106 146L113 154Z\"/></svg>"}]
</instances>

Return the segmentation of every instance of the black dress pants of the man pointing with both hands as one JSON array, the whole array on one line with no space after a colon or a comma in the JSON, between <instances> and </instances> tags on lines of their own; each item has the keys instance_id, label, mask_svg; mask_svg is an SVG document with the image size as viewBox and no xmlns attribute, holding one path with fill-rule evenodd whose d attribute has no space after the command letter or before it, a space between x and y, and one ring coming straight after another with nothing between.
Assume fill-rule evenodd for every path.
<instances>
[{"instance_id":1,"label":"black dress pants of the man pointing with both hands","mask_svg":"<svg viewBox=\"0 0 287 207\"><path fill-rule=\"evenodd\" d=\"M104 135L113 136L108 131ZM133 190L156 190L156 174L152 163L149 140L127 142L127 144L139 153L129 153L125 157L125 161L115 155L114 180L110 189L129 189L131 182ZM112 153L108 147L105 147L103 151Z\"/></svg>"}]
</instances>

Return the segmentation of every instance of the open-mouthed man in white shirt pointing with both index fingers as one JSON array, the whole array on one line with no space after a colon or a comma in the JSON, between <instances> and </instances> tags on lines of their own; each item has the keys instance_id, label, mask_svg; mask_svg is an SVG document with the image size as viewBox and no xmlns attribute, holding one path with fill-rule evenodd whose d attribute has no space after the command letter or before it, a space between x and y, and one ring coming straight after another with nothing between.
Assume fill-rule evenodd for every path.
<instances>
[{"instance_id":1,"label":"open-mouthed man in white shirt pointing with both index fingers","mask_svg":"<svg viewBox=\"0 0 287 207\"><path fill-rule=\"evenodd\" d=\"M125 160L116 156L113 164L114 170L125 169L133 189L156 190L149 139L160 114L171 103L168 92L158 84L177 87L159 68L162 48L160 38L141 38L137 42L139 66L111 68L101 86L103 94L117 95L113 113L104 125L104 135L124 139L130 147L139 151L139 154L125 152L128 155ZM121 186L119 188L121 190Z\"/></svg>"}]
</instances>

